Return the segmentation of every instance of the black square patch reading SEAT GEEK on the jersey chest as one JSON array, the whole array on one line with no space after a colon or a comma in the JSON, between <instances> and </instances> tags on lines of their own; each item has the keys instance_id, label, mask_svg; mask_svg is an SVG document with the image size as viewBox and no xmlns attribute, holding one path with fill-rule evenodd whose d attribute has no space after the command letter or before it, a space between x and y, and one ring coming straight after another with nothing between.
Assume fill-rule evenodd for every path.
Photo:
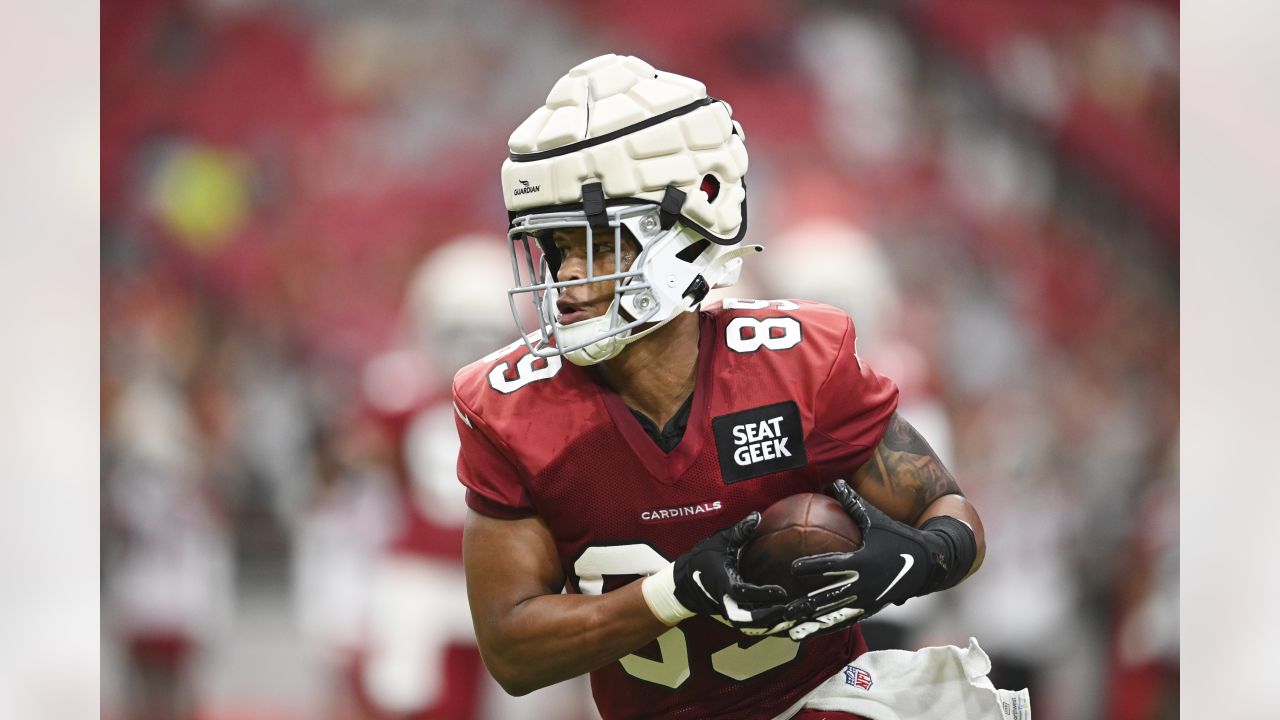
<instances>
[{"instance_id":1,"label":"black square patch reading SEAT GEEK on the jersey chest","mask_svg":"<svg viewBox=\"0 0 1280 720\"><path fill-rule=\"evenodd\" d=\"M795 402L777 402L712 420L724 484L803 468L804 427Z\"/></svg>"}]
</instances>

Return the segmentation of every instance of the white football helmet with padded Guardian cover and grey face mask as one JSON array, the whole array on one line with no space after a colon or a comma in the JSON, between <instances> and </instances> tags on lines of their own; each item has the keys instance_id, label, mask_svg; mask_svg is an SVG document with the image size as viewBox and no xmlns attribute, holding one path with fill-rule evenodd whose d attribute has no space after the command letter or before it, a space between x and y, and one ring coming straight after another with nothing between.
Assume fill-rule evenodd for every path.
<instances>
[{"instance_id":1,"label":"white football helmet with padded Guardian cover and grey face mask","mask_svg":"<svg viewBox=\"0 0 1280 720\"><path fill-rule=\"evenodd\" d=\"M602 55L562 77L547 104L511 135L502 165L509 215L512 315L530 351L577 365L608 360L627 343L737 281L746 232L746 146L727 102L703 83L631 56ZM557 279L556 229L586 232L585 277ZM599 273L596 233L613 242ZM630 236L630 237L628 237ZM635 260L625 264L625 241ZM600 316L558 322L556 301L576 284L613 282ZM531 299L536 329L521 322Z\"/></svg>"}]
</instances>

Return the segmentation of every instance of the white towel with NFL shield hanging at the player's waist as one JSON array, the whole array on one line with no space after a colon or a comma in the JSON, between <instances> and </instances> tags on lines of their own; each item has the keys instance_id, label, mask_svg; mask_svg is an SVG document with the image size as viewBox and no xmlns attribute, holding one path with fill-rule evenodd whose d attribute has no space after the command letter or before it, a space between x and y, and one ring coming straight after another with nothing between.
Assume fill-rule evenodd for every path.
<instances>
[{"instance_id":1,"label":"white towel with NFL shield hanging at the player's waist","mask_svg":"<svg viewBox=\"0 0 1280 720\"><path fill-rule=\"evenodd\" d=\"M968 648L878 650L858 656L786 714L800 708L855 712L868 720L1030 720L1030 696L997 691L991 659Z\"/></svg>"}]
</instances>

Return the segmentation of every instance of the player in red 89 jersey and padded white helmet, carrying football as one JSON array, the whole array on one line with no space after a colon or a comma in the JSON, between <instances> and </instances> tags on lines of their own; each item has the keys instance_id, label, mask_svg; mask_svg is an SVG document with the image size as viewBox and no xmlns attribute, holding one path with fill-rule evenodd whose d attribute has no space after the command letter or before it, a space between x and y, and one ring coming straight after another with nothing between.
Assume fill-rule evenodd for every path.
<instances>
[{"instance_id":1,"label":"player in red 89 jersey and padded white helmet, carrying football","mask_svg":"<svg viewBox=\"0 0 1280 720\"><path fill-rule=\"evenodd\" d=\"M858 357L849 315L703 305L762 250L744 242L728 104L603 55L509 149L509 297L536 320L453 384L467 591L494 678L522 694L590 673L607 719L1029 717L1001 710L1025 696L991 687L977 643L867 652L860 619L980 565L982 521ZM744 580L758 511L823 489L864 546L797 560L829 580L804 597Z\"/></svg>"}]
</instances>

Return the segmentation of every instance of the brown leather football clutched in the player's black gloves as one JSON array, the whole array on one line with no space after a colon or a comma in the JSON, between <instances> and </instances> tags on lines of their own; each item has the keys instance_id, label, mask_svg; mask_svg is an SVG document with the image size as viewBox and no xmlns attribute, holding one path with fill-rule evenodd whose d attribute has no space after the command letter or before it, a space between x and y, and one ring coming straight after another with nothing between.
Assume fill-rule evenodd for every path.
<instances>
[{"instance_id":1,"label":"brown leather football clutched in the player's black gloves","mask_svg":"<svg viewBox=\"0 0 1280 720\"><path fill-rule=\"evenodd\" d=\"M800 493L771 505L762 514L755 537L742 548L742 578L755 584L786 588L803 597L823 585L791 577L791 561L820 552L852 552L863 546L863 533L840 502L817 493Z\"/></svg>"}]
</instances>

